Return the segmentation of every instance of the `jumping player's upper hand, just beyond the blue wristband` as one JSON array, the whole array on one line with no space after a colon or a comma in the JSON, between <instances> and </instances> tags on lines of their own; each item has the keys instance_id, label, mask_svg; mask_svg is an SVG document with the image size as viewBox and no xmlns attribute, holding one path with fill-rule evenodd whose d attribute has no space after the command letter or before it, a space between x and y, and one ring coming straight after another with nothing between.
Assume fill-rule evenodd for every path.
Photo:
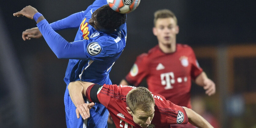
<instances>
[{"instance_id":1,"label":"jumping player's upper hand, just beyond the blue wristband","mask_svg":"<svg viewBox=\"0 0 256 128\"><path fill-rule=\"evenodd\" d=\"M26 6L25 8L23 8L21 11L18 11L17 13L13 13L14 17L28 17L29 19L33 19L33 16L38 13L38 11L32 7L32 6Z\"/></svg>"}]
</instances>

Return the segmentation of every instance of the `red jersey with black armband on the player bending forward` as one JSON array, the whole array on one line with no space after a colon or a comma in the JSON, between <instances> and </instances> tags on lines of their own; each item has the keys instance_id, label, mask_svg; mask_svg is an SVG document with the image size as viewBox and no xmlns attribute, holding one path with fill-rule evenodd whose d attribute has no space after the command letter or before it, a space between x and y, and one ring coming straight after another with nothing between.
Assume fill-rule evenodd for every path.
<instances>
[{"instance_id":1,"label":"red jersey with black armband on the player bending forward","mask_svg":"<svg viewBox=\"0 0 256 128\"><path fill-rule=\"evenodd\" d=\"M117 128L141 128L133 122L132 116L126 110L126 95L133 88L136 87L106 84L103 86L91 85L86 90L86 97L91 102L103 104L109 110ZM149 125L150 128L170 128L170 124L185 124L188 122L183 107L173 104L161 95L152 93L152 96L155 99L155 116L151 125Z\"/></svg>"}]
</instances>

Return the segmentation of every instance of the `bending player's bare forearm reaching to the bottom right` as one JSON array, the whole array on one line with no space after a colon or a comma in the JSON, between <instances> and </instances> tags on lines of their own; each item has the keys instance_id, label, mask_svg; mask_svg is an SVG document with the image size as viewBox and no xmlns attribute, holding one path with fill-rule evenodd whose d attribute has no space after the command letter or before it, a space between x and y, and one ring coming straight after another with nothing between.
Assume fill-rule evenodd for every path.
<instances>
[{"instance_id":1,"label":"bending player's bare forearm reaching to the bottom right","mask_svg":"<svg viewBox=\"0 0 256 128\"><path fill-rule=\"evenodd\" d=\"M192 109L183 107L188 115L189 123L193 124L198 128L213 128L213 126L206 121L201 115L197 114Z\"/></svg>"}]
</instances>

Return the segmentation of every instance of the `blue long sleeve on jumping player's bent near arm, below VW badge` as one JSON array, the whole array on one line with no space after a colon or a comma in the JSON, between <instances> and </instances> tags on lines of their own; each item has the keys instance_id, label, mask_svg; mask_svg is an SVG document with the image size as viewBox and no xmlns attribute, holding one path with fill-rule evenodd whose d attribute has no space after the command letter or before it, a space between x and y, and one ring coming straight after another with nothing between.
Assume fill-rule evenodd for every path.
<instances>
[{"instance_id":1,"label":"blue long sleeve on jumping player's bent near arm, below VW badge","mask_svg":"<svg viewBox=\"0 0 256 128\"><path fill-rule=\"evenodd\" d=\"M51 28L46 19L40 21L36 25L44 36L44 40L47 42L48 46L52 49L52 51L58 58L88 58L84 52L83 40L68 42Z\"/></svg>"}]
</instances>

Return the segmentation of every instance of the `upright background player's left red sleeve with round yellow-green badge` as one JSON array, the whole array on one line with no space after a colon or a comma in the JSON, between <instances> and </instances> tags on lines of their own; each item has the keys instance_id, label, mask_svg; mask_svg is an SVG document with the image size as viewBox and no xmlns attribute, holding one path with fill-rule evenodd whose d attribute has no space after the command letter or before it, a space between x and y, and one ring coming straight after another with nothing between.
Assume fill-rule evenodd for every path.
<instances>
[{"instance_id":1,"label":"upright background player's left red sleeve with round yellow-green badge","mask_svg":"<svg viewBox=\"0 0 256 128\"><path fill-rule=\"evenodd\" d=\"M131 85L138 86L148 74L148 64L147 54L144 53L139 55L133 64L132 69L125 77L125 80Z\"/></svg>"}]
</instances>

